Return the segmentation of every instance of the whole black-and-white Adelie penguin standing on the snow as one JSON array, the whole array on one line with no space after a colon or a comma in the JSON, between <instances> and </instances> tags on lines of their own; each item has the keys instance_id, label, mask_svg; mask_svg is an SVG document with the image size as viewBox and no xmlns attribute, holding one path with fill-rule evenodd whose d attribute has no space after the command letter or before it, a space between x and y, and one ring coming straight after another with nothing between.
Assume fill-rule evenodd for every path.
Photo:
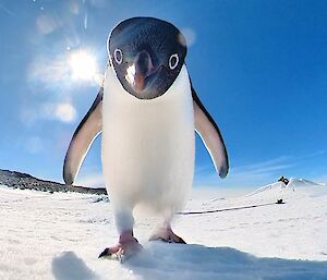
<instances>
[{"instance_id":1,"label":"whole black-and-white Adelie penguin standing on the snow","mask_svg":"<svg viewBox=\"0 0 327 280\"><path fill-rule=\"evenodd\" d=\"M202 105L185 66L186 42L172 24L134 17L110 33L102 87L76 129L63 178L72 184L94 138L102 133L102 172L119 232L100 256L129 256L135 208L159 217L149 240L185 243L171 229L185 204L194 173L195 133L221 178L228 156L219 129Z\"/></svg>"}]
</instances>

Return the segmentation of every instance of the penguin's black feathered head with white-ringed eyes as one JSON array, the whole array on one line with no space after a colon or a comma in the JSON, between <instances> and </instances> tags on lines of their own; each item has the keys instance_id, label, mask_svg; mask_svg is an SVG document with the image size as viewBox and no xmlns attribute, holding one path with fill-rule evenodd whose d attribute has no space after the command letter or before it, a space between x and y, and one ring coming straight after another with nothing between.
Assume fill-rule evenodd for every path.
<instances>
[{"instance_id":1,"label":"penguin's black feathered head with white-ringed eyes","mask_svg":"<svg viewBox=\"0 0 327 280\"><path fill-rule=\"evenodd\" d=\"M168 22L133 17L113 28L107 49L122 87L138 99L154 99L164 95L179 75L186 41Z\"/></svg>"}]
</instances>

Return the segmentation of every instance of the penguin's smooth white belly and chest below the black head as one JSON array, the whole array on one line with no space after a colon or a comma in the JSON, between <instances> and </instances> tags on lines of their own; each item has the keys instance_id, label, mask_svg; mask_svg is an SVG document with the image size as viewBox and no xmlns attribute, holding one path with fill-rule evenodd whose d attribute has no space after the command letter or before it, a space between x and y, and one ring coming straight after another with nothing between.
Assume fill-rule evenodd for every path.
<instances>
[{"instance_id":1,"label":"penguin's smooth white belly and chest below the black head","mask_svg":"<svg viewBox=\"0 0 327 280\"><path fill-rule=\"evenodd\" d=\"M109 69L102 107L102 171L113 205L171 216L194 173L194 115L186 69L168 92L140 100ZM189 85L189 86L187 86Z\"/></svg>"}]
</instances>

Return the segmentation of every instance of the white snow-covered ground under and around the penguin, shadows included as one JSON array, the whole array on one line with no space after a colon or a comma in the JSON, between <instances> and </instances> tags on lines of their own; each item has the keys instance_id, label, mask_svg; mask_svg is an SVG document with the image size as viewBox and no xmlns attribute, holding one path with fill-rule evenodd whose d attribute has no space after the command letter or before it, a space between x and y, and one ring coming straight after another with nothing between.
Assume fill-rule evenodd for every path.
<instances>
[{"instance_id":1,"label":"white snow-covered ground under and around the penguin, shadows included","mask_svg":"<svg viewBox=\"0 0 327 280\"><path fill-rule=\"evenodd\" d=\"M174 222L187 245L147 242L155 219L138 220L144 251L120 264L97 258L118 239L108 199L2 186L0 279L327 279L326 185L292 179L235 198L201 193L185 211L213 212Z\"/></svg>"}]
</instances>

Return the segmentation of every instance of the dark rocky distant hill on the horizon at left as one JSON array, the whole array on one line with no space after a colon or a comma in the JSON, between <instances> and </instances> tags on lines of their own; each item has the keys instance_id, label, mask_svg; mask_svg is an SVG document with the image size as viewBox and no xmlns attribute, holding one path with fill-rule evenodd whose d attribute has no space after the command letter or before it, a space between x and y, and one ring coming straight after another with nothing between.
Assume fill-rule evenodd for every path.
<instances>
[{"instance_id":1,"label":"dark rocky distant hill on the horizon at left","mask_svg":"<svg viewBox=\"0 0 327 280\"><path fill-rule=\"evenodd\" d=\"M46 181L26 173L0 169L0 185L20 190L35 190L41 192L76 192L83 194L107 194L106 188L92 188L85 186L72 186L58 182Z\"/></svg>"}]
</instances>

